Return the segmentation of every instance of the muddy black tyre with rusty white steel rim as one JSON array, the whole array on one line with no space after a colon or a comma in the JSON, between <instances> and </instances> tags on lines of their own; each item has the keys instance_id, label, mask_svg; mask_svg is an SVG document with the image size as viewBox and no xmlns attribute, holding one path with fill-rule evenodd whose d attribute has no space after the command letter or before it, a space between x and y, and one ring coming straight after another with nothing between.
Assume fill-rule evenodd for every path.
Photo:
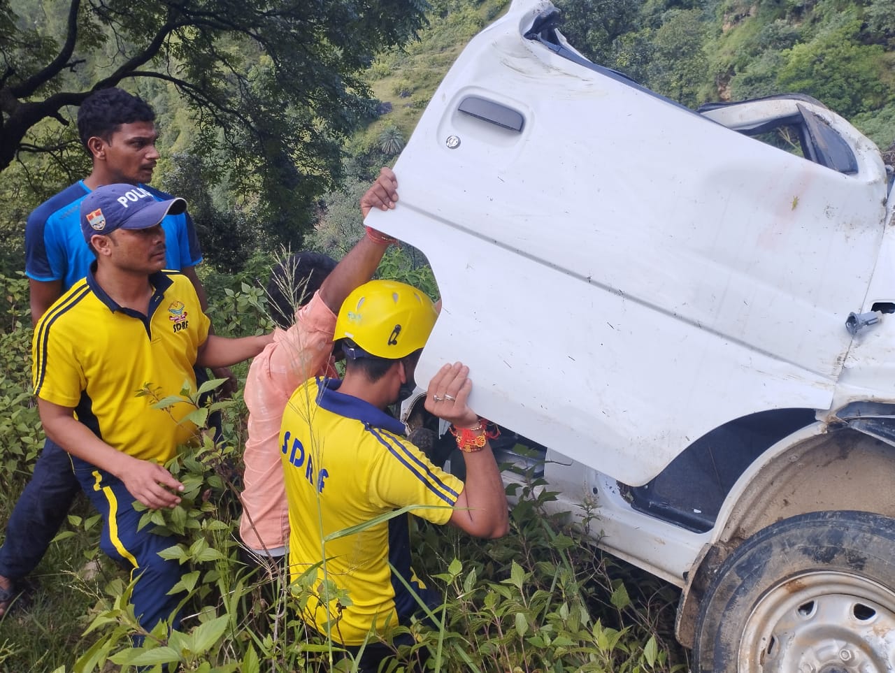
<instances>
[{"instance_id":1,"label":"muddy black tyre with rusty white steel rim","mask_svg":"<svg viewBox=\"0 0 895 673\"><path fill-rule=\"evenodd\" d=\"M895 671L895 520L814 512L746 540L703 597L694 669Z\"/></svg>"}]
</instances>

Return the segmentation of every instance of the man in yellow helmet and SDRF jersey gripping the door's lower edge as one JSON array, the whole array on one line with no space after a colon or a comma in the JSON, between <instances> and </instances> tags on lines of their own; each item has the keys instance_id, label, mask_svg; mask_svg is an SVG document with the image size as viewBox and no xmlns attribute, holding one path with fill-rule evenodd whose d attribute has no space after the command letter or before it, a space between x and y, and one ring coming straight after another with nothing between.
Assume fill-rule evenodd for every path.
<instances>
[{"instance_id":1,"label":"man in yellow helmet and SDRF jersey gripping the door's lower edge","mask_svg":"<svg viewBox=\"0 0 895 673\"><path fill-rule=\"evenodd\" d=\"M507 533L507 498L491 452L490 433L466 404L472 388L460 362L431 380L426 408L453 423L465 453L465 483L431 464L405 438L405 425L386 411L413 371L435 325L432 302L416 288L375 280L361 285L339 311L345 379L310 379L290 398L280 445L289 500L289 561L293 579L316 574L302 618L321 634L361 653L360 669L373 670L392 650L377 642L388 627L406 624L422 601L437 596L413 575L409 516L396 516L343 538L323 539L401 507L434 524L455 524L478 537ZM394 568L394 570L393 570ZM337 605L326 581L348 593ZM405 585L406 583L406 585ZM360 646L371 635L370 643Z\"/></svg>"}]
</instances>

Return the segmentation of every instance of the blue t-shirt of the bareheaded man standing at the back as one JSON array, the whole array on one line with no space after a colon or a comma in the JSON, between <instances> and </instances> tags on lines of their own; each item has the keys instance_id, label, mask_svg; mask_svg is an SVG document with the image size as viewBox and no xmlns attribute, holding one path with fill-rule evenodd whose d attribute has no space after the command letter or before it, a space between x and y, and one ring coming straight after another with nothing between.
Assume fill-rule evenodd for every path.
<instances>
[{"instance_id":1,"label":"blue t-shirt of the bareheaded man standing at the back","mask_svg":"<svg viewBox=\"0 0 895 673\"><path fill-rule=\"evenodd\" d=\"M140 185L155 200L172 199L145 184ZM63 292L87 276L96 258L81 234L81 201L90 193L83 180L66 187L41 203L25 226L25 275L39 281L62 281ZM187 214L162 220L165 230L166 268L194 267L202 260L199 238Z\"/></svg>"}]
</instances>

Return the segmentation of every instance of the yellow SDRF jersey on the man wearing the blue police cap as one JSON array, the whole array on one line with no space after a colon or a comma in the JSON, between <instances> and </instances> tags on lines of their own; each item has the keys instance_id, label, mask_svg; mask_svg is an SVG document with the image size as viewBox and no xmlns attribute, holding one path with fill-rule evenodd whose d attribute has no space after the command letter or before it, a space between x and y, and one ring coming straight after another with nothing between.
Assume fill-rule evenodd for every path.
<instances>
[{"instance_id":1,"label":"yellow SDRF jersey on the man wearing the blue police cap","mask_svg":"<svg viewBox=\"0 0 895 673\"><path fill-rule=\"evenodd\" d=\"M92 273L75 283L38 320L32 344L34 392L72 407L78 420L129 456L164 463L196 433L179 422L188 404L153 409L138 397L152 384L159 398L194 388L193 365L209 336L209 319L189 278L176 271L149 277L149 315L119 306Z\"/></svg>"}]
</instances>

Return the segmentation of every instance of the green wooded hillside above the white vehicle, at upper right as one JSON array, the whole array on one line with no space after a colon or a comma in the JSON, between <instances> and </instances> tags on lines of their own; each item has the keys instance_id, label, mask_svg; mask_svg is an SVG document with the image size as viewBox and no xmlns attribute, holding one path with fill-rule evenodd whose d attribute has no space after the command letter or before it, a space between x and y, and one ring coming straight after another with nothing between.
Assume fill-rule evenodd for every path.
<instances>
[{"instance_id":1,"label":"green wooded hillside above the white vehicle, at upper right","mask_svg":"<svg viewBox=\"0 0 895 673\"><path fill-rule=\"evenodd\" d=\"M895 141L891 0L558 0L569 42L687 106L805 93ZM609 18L607 18L609 17Z\"/></svg>"}]
</instances>

